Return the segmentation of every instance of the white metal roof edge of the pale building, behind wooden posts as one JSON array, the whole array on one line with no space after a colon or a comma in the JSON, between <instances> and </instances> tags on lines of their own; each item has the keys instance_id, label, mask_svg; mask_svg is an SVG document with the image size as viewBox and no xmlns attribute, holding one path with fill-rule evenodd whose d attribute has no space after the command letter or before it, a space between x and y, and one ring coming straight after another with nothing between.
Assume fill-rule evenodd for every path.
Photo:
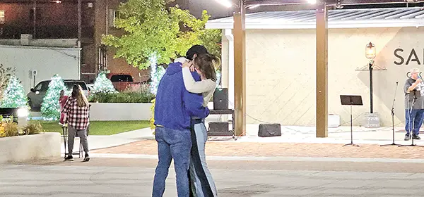
<instances>
[{"instance_id":1,"label":"white metal roof edge of the pale building, behind wooden posts","mask_svg":"<svg viewBox=\"0 0 424 197\"><path fill-rule=\"evenodd\" d=\"M246 14L246 29L315 29L315 11L273 11ZM422 27L424 9L372 8L329 10L329 28ZM206 23L207 29L232 29L233 18Z\"/></svg>"}]
</instances>

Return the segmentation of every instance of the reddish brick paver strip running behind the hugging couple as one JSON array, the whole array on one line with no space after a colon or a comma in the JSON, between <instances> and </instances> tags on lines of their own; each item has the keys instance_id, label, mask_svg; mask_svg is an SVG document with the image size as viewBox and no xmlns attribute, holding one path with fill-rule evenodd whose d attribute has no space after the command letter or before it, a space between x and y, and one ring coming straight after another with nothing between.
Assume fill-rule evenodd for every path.
<instances>
[{"instance_id":1,"label":"reddish brick paver strip running behind the hugging couple","mask_svg":"<svg viewBox=\"0 0 424 197\"><path fill-rule=\"evenodd\" d=\"M417 141L418 145L421 141ZM406 144L407 142L404 142ZM411 143L409 141L409 143ZM208 141L206 155L215 156L281 156L313 158L424 158L423 147L379 146L359 144L360 147L343 144L289 144L252 143L237 141ZM157 143L154 140L136 141L122 146L98 149L91 153L125 153L156 155Z\"/></svg>"}]
</instances>

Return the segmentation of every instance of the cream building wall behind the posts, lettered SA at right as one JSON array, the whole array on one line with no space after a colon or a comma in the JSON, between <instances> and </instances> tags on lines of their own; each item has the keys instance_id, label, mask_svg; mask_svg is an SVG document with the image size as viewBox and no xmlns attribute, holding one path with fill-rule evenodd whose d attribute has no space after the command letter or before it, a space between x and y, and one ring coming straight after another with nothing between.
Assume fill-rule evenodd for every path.
<instances>
[{"instance_id":1,"label":"cream building wall behind the posts, lettered SA at right","mask_svg":"<svg viewBox=\"0 0 424 197\"><path fill-rule=\"evenodd\" d=\"M330 29L329 113L340 115L343 125L350 124L350 108L341 106L341 94L363 96L364 106L353 106L353 117L358 117L354 125L361 125L363 114L370 113L369 72L355 70L367 65L365 45L369 42L377 48L375 64L387 68L374 71L374 113L379 113L382 126L391 126L391 104L399 82L394 124L402 126L406 72L424 70L424 27ZM315 125L315 30L247 30L246 47L247 123ZM397 52L404 58L401 65L395 63L401 61L394 55L396 49L404 50ZM419 62L407 62L412 49ZM223 47L223 54L228 54L228 48ZM416 58L411 56L411 60ZM226 61L223 70L228 70Z\"/></svg>"}]
</instances>

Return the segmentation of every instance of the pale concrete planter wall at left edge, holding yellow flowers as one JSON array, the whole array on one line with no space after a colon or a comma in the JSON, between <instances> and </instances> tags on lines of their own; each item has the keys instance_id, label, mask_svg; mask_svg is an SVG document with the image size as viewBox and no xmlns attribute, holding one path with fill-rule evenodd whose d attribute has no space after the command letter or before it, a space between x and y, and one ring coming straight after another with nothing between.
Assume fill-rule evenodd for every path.
<instances>
[{"instance_id":1,"label":"pale concrete planter wall at left edge, holding yellow flowers","mask_svg":"<svg viewBox=\"0 0 424 197\"><path fill-rule=\"evenodd\" d=\"M0 138L0 164L60 158L60 133L42 133Z\"/></svg>"}]
</instances>

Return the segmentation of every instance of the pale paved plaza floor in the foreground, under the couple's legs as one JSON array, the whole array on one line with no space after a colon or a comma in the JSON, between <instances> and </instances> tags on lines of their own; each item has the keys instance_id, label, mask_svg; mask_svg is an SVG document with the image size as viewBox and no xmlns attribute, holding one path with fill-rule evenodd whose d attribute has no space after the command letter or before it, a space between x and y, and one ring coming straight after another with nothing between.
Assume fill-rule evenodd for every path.
<instances>
[{"instance_id":1,"label":"pale paved plaza floor in the foreground, under the couple's legs","mask_svg":"<svg viewBox=\"0 0 424 197\"><path fill-rule=\"evenodd\" d=\"M316 160L316 161L314 161ZM151 196L155 159L0 165L0 196ZM422 160L208 160L219 196L423 196ZM173 167L164 196L177 196Z\"/></svg>"}]
</instances>

